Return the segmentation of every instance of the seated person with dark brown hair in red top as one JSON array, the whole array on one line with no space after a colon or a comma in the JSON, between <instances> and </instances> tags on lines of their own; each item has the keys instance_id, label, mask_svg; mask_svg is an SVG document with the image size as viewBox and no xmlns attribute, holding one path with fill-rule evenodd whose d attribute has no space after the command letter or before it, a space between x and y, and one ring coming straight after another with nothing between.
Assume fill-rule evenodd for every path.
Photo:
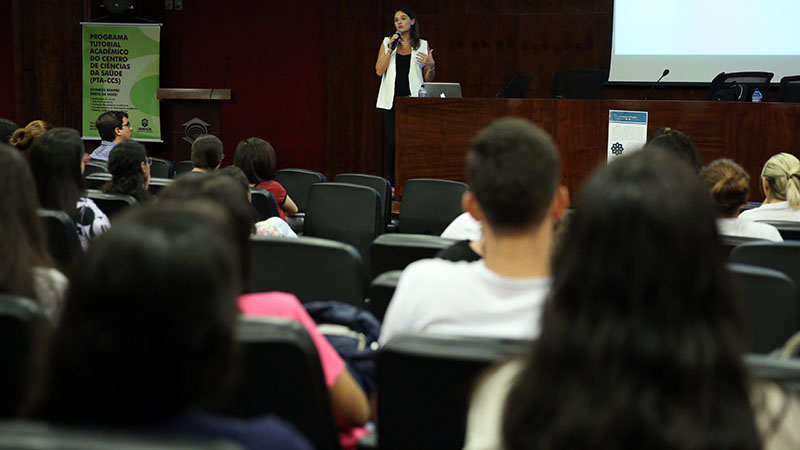
<instances>
[{"instance_id":1,"label":"seated person with dark brown hair in red top","mask_svg":"<svg viewBox=\"0 0 800 450\"><path fill-rule=\"evenodd\" d=\"M278 203L281 219L286 220L287 214L290 216L297 214L297 205L286 193L286 189L273 180L277 169L277 158L275 149L269 142L255 137L239 142L233 163L244 171L251 187L266 189L272 193Z\"/></svg>"}]
</instances>

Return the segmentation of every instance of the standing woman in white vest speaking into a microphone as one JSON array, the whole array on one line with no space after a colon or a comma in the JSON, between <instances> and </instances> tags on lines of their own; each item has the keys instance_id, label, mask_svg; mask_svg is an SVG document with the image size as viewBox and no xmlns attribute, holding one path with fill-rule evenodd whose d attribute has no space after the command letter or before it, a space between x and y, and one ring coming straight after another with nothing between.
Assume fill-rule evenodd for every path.
<instances>
[{"instance_id":1,"label":"standing woman in white vest speaking into a microphone","mask_svg":"<svg viewBox=\"0 0 800 450\"><path fill-rule=\"evenodd\" d=\"M420 39L417 16L408 8L394 13L395 33L383 38L375 62L381 77L378 101L383 110L383 176L394 184L394 98L416 97L424 81L433 80L436 63L428 41ZM412 64L411 61L415 64ZM424 68L424 75L423 75Z\"/></svg>"}]
</instances>

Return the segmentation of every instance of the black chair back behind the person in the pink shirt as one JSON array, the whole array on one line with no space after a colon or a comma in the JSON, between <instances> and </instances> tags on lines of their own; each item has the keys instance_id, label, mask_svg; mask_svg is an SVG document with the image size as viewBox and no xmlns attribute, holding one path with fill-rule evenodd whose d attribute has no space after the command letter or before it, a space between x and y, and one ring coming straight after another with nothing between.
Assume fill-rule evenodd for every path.
<instances>
[{"instance_id":1,"label":"black chair back behind the person in the pink shirt","mask_svg":"<svg viewBox=\"0 0 800 450\"><path fill-rule=\"evenodd\" d=\"M243 316L237 334L239 376L217 412L241 418L275 414L314 448L341 448L319 355L303 325Z\"/></svg>"}]
</instances>

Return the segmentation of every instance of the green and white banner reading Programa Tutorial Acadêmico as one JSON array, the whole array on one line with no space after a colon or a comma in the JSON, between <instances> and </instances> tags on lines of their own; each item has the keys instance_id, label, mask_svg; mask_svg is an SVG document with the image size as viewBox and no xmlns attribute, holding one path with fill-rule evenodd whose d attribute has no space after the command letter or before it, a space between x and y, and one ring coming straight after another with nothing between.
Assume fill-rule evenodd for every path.
<instances>
[{"instance_id":1,"label":"green and white banner reading Programa Tutorial Acad\u00eamico","mask_svg":"<svg viewBox=\"0 0 800 450\"><path fill-rule=\"evenodd\" d=\"M159 86L161 24L83 22L83 127L99 139L95 121L106 111L124 111L133 139L161 142Z\"/></svg>"}]
</instances>

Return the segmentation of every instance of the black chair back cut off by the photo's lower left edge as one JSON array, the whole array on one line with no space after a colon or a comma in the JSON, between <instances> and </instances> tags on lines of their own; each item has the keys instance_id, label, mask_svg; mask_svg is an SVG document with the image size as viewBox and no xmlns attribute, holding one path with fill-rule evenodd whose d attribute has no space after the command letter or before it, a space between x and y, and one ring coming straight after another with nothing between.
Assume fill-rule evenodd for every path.
<instances>
[{"instance_id":1,"label":"black chair back cut off by the photo's lower left edge","mask_svg":"<svg viewBox=\"0 0 800 450\"><path fill-rule=\"evenodd\" d=\"M0 294L0 417L16 417L33 378L36 345L50 320L33 301Z\"/></svg>"}]
</instances>

